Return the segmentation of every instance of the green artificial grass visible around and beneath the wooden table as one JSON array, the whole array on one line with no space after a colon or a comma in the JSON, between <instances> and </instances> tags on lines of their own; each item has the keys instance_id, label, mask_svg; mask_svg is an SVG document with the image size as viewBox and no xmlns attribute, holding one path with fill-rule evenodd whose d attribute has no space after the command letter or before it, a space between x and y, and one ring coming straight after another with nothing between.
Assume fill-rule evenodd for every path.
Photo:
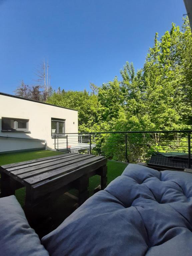
<instances>
[{"instance_id":1,"label":"green artificial grass visible around and beneath the wooden table","mask_svg":"<svg viewBox=\"0 0 192 256\"><path fill-rule=\"evenodd\" d=\"M0 154L0 166L5 165L5 164L28 161L28 160L32 160L32 159L55 156L55 155L59 155L59 154L63 154L63 153L58 152L58 151L51 151L51 150L37 150L37 151L26 151L26 152ZM108 162L107 162L107 167L108 167L107 184L109 184L116 177L120 176L126 166L127 166L126 163L108 160ZM98 175L95 175L89 179L90 196L93 195L94 188L96 188L100 184L100 179L101 178ZM71 190L70 192L74 195L78 195L77 191ZM17 200L20 202L21 206L23 206L24 202L25 202L25 188L16 190L15 195L17 197Z\"/></svg>"}]
</instances>

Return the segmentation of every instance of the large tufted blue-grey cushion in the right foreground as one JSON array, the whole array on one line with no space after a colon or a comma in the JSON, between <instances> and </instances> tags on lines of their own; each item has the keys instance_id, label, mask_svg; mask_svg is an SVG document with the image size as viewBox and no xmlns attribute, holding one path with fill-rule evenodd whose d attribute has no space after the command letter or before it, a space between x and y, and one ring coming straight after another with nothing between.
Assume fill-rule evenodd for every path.
<instances>
[{"instance_id":1,"label":"large tufted blue-grey cushion in the right foreground","mask_svg":"<svg viewBox=\"0 0 192 256\"><path fill-rule=\"evenodd\" d=\"M129 164L42 239L59 255L192 255L192 174Z\"/></svg>"}]
</instances>

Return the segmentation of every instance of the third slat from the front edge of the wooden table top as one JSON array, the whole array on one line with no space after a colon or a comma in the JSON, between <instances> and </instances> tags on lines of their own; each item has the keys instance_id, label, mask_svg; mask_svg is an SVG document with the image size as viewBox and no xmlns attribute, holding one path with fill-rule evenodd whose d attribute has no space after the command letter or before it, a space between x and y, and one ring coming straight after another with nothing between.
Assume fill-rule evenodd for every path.
<instances>
[{"instance_id":1,"label":"third slat from the front edge of the wooden table top","mask_svg":"<svg viewBox=\"0 0 192 256\"><path fill-rule=\"evenodd\" d=\"M38 164L38 165L35 165L35 166L30 166L30 167L27 167L27 168L11 171L11 173L14 174L14 175L20 175L22 173L27 173L27 172L31 172L31 171L35 171L35 170L40 170L42 168L49 167L49 166L55 166L57 164L68 162L68 161L73 160L73 159L75 160L76 158L81 158L81 157L84 157L84 156L86 156L86 155L79 154L77 156L68 157L68 158L61 158L59 160L57 158L57 160L55 160L53 162L51 161L51 162L47 162L47 163Z\"/></svg>"}]
</instances>

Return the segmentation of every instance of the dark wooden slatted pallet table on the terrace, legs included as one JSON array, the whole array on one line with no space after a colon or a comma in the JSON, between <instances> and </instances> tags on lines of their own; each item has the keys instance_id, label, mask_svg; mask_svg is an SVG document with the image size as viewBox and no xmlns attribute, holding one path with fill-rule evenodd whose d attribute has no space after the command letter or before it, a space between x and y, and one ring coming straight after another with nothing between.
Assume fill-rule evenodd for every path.
<instances>
[{"instance_id":1,"label":"dark wooden slatted pallet table on the terrace, legs included","mask_svg":"<svg viewBox=\"0 0 192 256\"><path fill-rule=\"evenodd\" d=\"M79 205L89 196L89 177L101 176L101 189L107 183L107 159L103 156L68 153L0 167L1 197L14 195L26 187L25 213L29 221L43 213L50 198L72 188L79 191ZM48 205L48 204L47 204Z\"/></svg>"}]
</instances>

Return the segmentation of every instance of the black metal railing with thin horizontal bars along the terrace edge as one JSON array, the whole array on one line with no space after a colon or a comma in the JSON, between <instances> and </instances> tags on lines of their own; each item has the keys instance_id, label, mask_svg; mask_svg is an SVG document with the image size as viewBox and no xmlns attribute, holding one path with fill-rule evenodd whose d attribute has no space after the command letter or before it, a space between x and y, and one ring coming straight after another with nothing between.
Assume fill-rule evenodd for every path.
<instances>
[{"instance_id":1,"label":"black metal railing with thin horizontal bars along the terrace edge","mask_svg":"<svg viewBox=\"0 0 192 256\"><path fill-rule=\"evenodd\" d=\"M127 131L55 135L55 149L88 151L110 160L191 168L191 132Z\"/></svg>"}]
</instances>

